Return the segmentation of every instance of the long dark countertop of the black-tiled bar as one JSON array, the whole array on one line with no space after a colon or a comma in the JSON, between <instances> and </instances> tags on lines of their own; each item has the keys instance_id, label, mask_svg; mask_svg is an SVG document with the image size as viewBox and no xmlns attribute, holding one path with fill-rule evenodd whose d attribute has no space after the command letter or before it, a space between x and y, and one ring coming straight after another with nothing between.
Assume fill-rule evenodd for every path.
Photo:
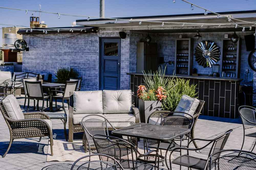
<instances>
[{"instance_id":1,"label":"long dark countertop of the black-tiled bar","mask_svg":"<svg viewBox=\"0 0 256 170\"><path fill-rule=\"evenodd\" d=\"M127 73L129 75L143 75L143 73ZM152 74L153 75L153 74ZM166 77L171 77L173 75L165 75ZM239 78L231 78L231 77L210 77L210 76L194 76L194 75L175 75L178 78L186 78L186 79L202 79L202 80L223 80L223 81L242 81Z\"/></svg>"}]
</instances>

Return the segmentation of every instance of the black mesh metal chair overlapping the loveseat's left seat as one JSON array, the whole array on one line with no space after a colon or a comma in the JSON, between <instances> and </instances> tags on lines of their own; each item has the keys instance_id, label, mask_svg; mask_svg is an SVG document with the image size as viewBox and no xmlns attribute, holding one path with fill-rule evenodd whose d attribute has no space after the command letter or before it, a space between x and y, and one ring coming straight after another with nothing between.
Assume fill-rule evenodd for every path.
<instances>
[{"instance_id":1,"label":"black mesh metal chair overlapping the loveseat's left seat","mask_svg":"<svg viewBox=\"0 0 256 170\"><path fill-rule=\"evenodd\" d=\"M89 114L84 116L80 122L84 129L83 134L83 146L85 152L87 152L87 146L89 147L89 153L91 149L96 149L92 137L94 135L106 135L109 136L109 127L111 130L116 130L112 124L105 117L99 114ZM137 138L131 137L127 139L134 146L137 146Z\"/></svg>"}]
</instances>

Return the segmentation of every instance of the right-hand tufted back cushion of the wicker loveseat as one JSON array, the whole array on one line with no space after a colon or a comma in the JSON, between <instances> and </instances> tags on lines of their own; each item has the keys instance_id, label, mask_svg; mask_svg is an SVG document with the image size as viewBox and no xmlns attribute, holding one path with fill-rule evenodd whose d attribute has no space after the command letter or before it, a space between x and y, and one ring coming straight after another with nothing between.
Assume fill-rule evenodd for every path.
<instances>
[{"instance_id":1,"label":"right-hand tufted back cushion of the wicker loveseat","mask_svg":"<svg viewBox=\"0 0 256 170\"><path fill-rule=\"evenodd\" d=\"M131 90L103 90L103 106L105 113L131 113Z\"/></svg>"}]
</instances>

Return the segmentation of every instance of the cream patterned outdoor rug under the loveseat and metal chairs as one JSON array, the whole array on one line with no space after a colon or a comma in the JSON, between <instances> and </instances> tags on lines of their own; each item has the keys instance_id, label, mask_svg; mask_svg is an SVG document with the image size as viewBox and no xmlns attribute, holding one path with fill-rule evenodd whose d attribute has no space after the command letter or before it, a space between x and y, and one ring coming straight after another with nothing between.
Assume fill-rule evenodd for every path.
<instances>
[{"instance_id":1,"label":"cream patterned outdoor rug under the loveseat and metal chairs","mask_svg":"<svg viewBox=\"0 0 256 170\"><path fill-rule=\"evenodd\" d=\"M76 161L77 159L83 156L89 155L88 151L85 153L84 147L82 145L82 140L67 142L66 140L54 139L53 142L54 142L53 156L51 156L51 147L50 147L50 141L49 141L46 162ZM143 140L140 140L140 142L138 142L138 151L142 154L144 153ZM162 151L162 154L165 155L164 150ZM169 155L170 154L167 154L168 158L169 158ZM92 157L92 158L97 158L97 157Z\"/></svg>"}]
</instances>

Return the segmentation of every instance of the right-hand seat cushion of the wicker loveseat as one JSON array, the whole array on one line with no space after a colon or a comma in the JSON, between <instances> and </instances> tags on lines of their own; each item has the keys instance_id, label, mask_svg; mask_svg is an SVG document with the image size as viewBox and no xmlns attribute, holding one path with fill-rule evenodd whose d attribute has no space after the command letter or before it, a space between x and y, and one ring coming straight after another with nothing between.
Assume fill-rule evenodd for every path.
<instances>
[{"instance_id":1,"label":"right-hand seat cushion of the wicker loveseat","mask_svg":"<svg viewBox=\"0 0 256 170\"><path fill-rule=\"evenodd\" d=\"M114 127L126 127L135 123L136 117L133 114L122 113L122 114L104 114L104 117Z\"/></svg>"}]
</instances>

